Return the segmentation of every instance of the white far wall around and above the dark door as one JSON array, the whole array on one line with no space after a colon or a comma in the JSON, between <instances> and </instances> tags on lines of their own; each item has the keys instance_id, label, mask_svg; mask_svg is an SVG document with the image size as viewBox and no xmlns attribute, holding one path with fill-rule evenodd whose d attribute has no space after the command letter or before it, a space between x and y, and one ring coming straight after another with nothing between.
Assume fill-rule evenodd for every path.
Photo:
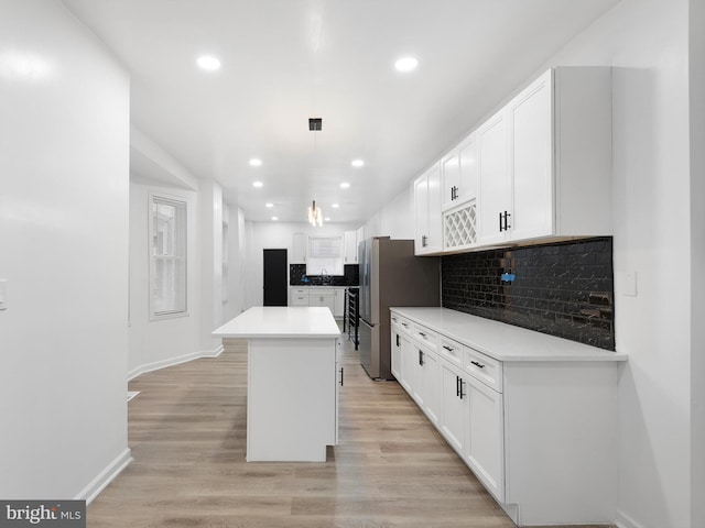
<instances>
[{"instance_id":1,"label":"white far wall around and above the dark door","mask_svg":"<svg viewBox=\"0 0 705 528\"><path fill-rule=\"evenodd\" d=\"M288 250L289 262L294 233L319 234L322 237L343 237L346 231L356 231L359 226L347 223L324 223L314 228L297 222L247 222L247 307L262 306L263 252L262 250Z\"/></svg>"}]
</instances>

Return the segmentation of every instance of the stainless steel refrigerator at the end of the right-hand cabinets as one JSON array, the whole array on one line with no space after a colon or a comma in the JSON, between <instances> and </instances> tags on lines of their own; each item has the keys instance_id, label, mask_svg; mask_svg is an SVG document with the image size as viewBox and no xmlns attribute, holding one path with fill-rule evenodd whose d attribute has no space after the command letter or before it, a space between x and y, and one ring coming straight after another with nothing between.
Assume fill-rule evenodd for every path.
<instances>
[{"instance_id":1,"label":"stainless steel refrigerator at the end of the right-hand cabinets","mask_svg":"<svg viewBox=\"0 0 705 528\"><path fill-rule=\"evenodd\" d=\"M376 237L358 245L360 362L373 380L393 380L389 308L441 306L441 261L414 256L413 240Z\"/></svg>"}]
</instances>

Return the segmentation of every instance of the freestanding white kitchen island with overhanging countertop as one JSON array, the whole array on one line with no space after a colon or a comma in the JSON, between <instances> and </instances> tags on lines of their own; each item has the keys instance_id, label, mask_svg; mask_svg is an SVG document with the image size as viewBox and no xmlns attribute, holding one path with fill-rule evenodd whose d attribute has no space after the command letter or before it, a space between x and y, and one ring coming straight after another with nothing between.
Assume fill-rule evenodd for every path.
<instances>
[{"instance_id":1,"label":"freestanding white kitchen island with overhanging countertop","mask_svg":"<svg viewBox=\"0 0 705 528\"><path fill-rule=\"evenodd\" d=\"M330 310L254 307L213 336L248 340L247 461L325 461L338 429Z\"/></svg>"}]
</instances>

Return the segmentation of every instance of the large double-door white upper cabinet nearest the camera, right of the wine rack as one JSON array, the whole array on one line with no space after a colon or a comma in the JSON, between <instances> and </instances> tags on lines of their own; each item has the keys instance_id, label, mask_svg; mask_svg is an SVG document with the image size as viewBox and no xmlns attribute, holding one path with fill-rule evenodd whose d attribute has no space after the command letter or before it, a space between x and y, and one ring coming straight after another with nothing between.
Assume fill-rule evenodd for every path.
<instances>
[{"instance_id":1,"label":"large double-door white upper cabinet nearest the camera, right of the wine rack","mask_svg":"<svg viewBox=\"0 0 705 528\"><path fill-rule=\"evenodd\" d=\"M611 72L551 69L477 131L479 245L611 234Z\"/></svg>"}]
</instances>

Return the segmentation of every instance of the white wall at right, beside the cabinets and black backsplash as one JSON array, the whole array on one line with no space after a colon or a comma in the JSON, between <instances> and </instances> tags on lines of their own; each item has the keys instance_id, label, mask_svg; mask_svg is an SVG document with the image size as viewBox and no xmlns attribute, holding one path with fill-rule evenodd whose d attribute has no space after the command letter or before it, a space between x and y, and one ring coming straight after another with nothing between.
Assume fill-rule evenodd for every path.
<instances>
[{"instance_id":1,"label":"white wall at right, beside the cabinets and black backsplash","mask_svg":"<svg viewBox=\"0 0 705 528\"><path fill-rule=\"evenodd\" d=\"M687 1L625 0L552 62L614 70L618 520L691 526ZM626 272L638 296L623 294ZM698 501L702 497L697 498Z\"/></svg>"}]
</instances>

